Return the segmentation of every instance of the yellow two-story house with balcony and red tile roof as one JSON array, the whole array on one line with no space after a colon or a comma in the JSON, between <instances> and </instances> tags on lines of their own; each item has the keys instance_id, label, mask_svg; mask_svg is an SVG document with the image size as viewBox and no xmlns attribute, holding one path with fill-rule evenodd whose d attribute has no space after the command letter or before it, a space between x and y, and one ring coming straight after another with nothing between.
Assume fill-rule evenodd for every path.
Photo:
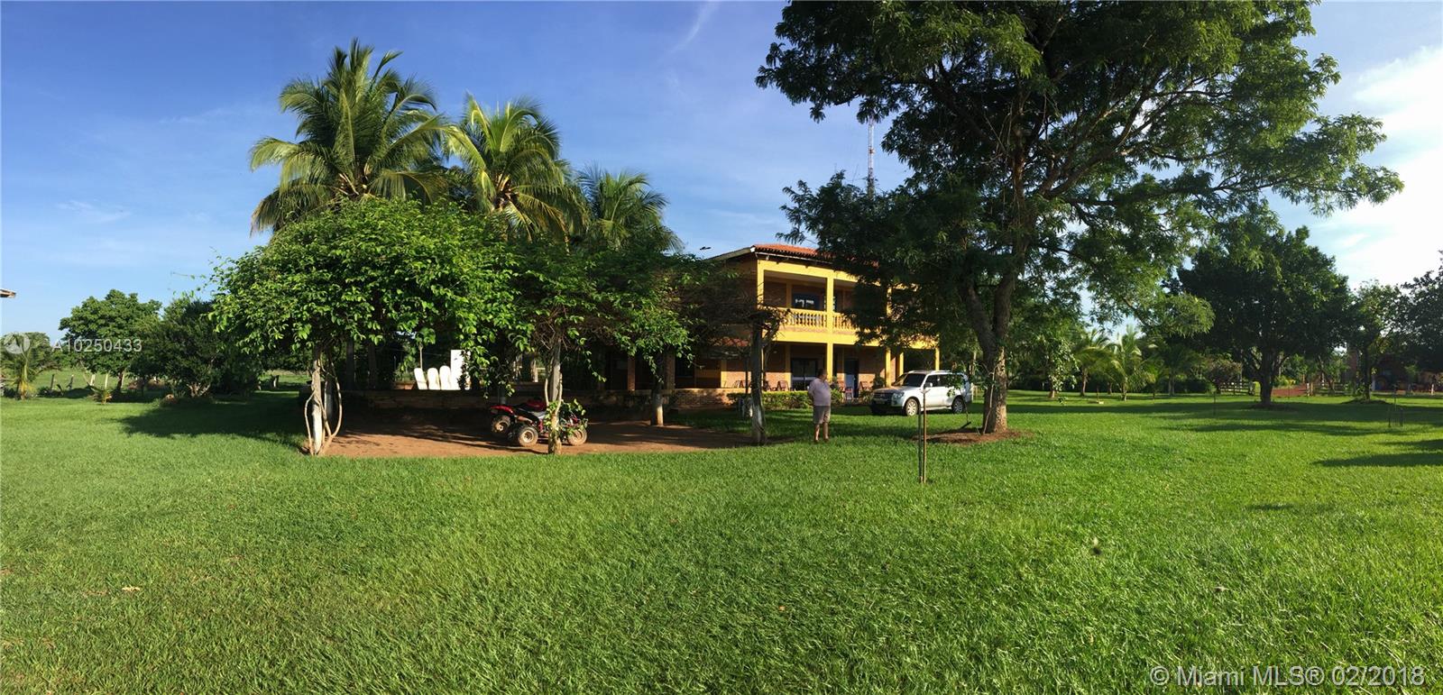
<instances>
[{"instance_id":1,"label":"yellow two-story house with balcony and red tile roof","mask_svg":"<svg viewBox=\"0 0 1443 695\"><path fill-rule=\"evenodd\" d=\"M758 244L714 257L756 288L758 306L786 309L785 320L768 352L763 388L797 391L821 373L856 398L889 385L908 369L937 369L934 343L913 343L893 352L877 342L857 339L844 313L851 307L857 278L835 270L817 249L786 244ZM698 355L693 360L662 365L674 386L672 404L723 405L726 394L750 388L747 359ZM609 353L603 365L603 392L645 392L652 375L642 360Z\"/></svg>"}]
</instances>

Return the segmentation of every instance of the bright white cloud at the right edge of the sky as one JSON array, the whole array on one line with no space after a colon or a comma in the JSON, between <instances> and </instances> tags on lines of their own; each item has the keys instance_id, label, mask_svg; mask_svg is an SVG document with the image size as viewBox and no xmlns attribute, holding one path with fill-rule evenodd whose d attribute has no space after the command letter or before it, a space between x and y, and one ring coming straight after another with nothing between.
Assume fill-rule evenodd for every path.
<instances>
[{"instance_id":1,"label":"bright white cloud at the right edge of the sky","mask_svg":"<svg viewBox=\"0 0 1443 695\"><path fill-rule=\"evenodd\" d=\"M1351 281L1401 283L1436 267L1443 248L1443 46L1361 72L1343 88L1351 105L1382 121L1388 141L1374 163L1403 179L1382 205L1364 203L1313 225Z\"/></svg>"}]
</instances>

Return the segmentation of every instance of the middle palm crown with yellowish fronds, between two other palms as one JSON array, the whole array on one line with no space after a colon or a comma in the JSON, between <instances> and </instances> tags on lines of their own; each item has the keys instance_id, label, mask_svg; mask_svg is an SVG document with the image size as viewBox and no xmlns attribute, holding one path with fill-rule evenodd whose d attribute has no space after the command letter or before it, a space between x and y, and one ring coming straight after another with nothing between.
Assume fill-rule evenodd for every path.
<instances>
[{"instance_id":1,"label":"middle palm crown with yellowish fronds, between two other palms","mask_svg":"<svg viewBox=\"0 0 1443 695\"><path fill-rule=\"evenodd\" d=\"M501 213L528 239L564 239L580 225L582 200L561 159L561 138L534 101L488 110L468 98L460 123L446 128L446 149L460 161L468 208Z\"/></svg>"}]
</instances>

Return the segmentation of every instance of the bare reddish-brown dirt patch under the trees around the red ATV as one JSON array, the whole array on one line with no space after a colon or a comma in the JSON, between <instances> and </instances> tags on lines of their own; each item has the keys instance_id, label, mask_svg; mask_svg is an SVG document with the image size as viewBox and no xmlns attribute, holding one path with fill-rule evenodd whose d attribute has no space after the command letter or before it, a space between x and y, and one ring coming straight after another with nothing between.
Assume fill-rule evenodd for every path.
<instances>
[{"instance_id":1,"label":"bare reddish-brown dirt patch under the trees around the red ATV","mask_svg":"<svg viewBox=\"0 0 1443 695\"><path fill-rule=\"evenodd\" d=\"M545 441L517 447L491 438L489 415L476 411L368 411L346 410L343 430L328 456L508 456L544 454ZM739 434L683 425L651 427L642 421L592 422L587 443L563 446L563 454L709 451L747 444Z\"/></svg>"}]
</instances>

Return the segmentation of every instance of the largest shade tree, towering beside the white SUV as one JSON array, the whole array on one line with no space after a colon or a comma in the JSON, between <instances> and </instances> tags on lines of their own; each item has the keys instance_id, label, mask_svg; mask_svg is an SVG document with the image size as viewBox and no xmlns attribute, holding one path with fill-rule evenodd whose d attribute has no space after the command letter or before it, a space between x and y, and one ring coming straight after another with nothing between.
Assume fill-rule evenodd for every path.
<instances>
[{"instance_id":1,"label":"largest shade tree, towering beside the white SUV","mask_svg":"<svg viewBox=\"0 0 1443 695\"><path fill-rule=\"evenodd\" d=\"M797 3L758 84L815 118L851 105L889 124L905 185L798 186L794 234L864 281L921 288L924 329L965 322L1003 430L1013 301L1049 270L1146 310L1209 216L1400 187L1361 163L1377 120L1319 111L1339 74L1294 43L1312 32L1297 3Z\"/></svg>"}]
</instances>

